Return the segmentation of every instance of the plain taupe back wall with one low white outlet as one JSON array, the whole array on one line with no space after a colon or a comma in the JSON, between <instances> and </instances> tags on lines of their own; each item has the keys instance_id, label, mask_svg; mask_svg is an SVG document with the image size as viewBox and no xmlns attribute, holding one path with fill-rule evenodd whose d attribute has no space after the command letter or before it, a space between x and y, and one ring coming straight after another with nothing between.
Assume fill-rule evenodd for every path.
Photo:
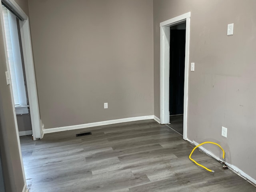
<instances>
[{"instance_id":1,"label":"plain taupe back wall with one low white outlet","mask_svg":"<svg viewBox=\"0 0 256 192\"><path fill-rule=\"evenodd\" d=\"M28 2L44 128L154 114L152 0Z\"/></svg>"}]
</instances>

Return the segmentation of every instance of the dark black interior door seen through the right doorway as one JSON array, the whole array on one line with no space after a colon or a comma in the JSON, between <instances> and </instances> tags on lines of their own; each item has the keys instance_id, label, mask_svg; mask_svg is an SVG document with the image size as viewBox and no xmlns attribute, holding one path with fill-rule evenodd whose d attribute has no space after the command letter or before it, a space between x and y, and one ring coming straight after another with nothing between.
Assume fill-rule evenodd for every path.
<instances>
[{"instance_id":1,"label":"dark black interior door seen through the right doorway","mask_svg":"<svg viewBox=\"0 0 256 192\"><path fill-rule=\"evenodd\" d=\"M170 115L183 114L186 30L170 28Z\"/></svg>"}]
</instances>

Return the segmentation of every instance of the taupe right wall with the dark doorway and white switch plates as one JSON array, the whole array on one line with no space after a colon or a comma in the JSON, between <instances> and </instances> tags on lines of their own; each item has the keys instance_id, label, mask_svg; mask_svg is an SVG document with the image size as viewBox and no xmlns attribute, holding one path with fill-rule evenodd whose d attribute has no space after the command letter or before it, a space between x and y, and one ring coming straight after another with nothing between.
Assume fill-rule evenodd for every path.
<instances>
[{"instance_id":1,"label":"taupe right wall with the dark doorway and white switch plates","mask_svg":"<svg viewBox=\"0 0 256 192\"><path fill-rule=\"evenodd\" d=\"M154 113L160 116L159 23L191 11L188 139L213 141L256 179L256 1L154 0ZM234 35L227 36L227 24ZM221 127L228 137L221 136ZM205 146L221 157L215 146Z\"/></svg>"}]
</instances>

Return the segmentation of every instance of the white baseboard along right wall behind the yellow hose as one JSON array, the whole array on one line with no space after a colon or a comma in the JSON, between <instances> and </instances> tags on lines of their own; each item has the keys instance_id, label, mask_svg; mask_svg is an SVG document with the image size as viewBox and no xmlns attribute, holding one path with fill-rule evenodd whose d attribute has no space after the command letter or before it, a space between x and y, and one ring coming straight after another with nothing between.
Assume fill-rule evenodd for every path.
<instances>
[{"instance_id":1,"label":"white baseboard along right wall behind the yellow hose","mask_svg":"<svg viewBox=\"0 0 256 192\"><path fill-rule=\"evenodd\" d=\"M195 142L195 141L191 141L189 139L187 139L188 142L194 144L194 145L199 145L199 143ZM217 157L216 155L214 155L212 152L208 151L206 148L199 146L198 148L200 148L200 150L202 150L203 152L205 152L206 154L208 154L209 156L213 157L214 159L218 160L218 161L222 161L221 158ZM248 174L246 174L245 172L243 172L242 170L240 170L238 167L228 163L225 161L225 164L228 166L228 168L230 170L232 170L234 173L238 174L239 176L241 176L242 178L244 178L245 180L247 180L248 182L250 182L251 184L253 184L254 186L256 185L256 180L254 178L252 178L251 176L249 176Z\"/></svg>"}]
</instances>

